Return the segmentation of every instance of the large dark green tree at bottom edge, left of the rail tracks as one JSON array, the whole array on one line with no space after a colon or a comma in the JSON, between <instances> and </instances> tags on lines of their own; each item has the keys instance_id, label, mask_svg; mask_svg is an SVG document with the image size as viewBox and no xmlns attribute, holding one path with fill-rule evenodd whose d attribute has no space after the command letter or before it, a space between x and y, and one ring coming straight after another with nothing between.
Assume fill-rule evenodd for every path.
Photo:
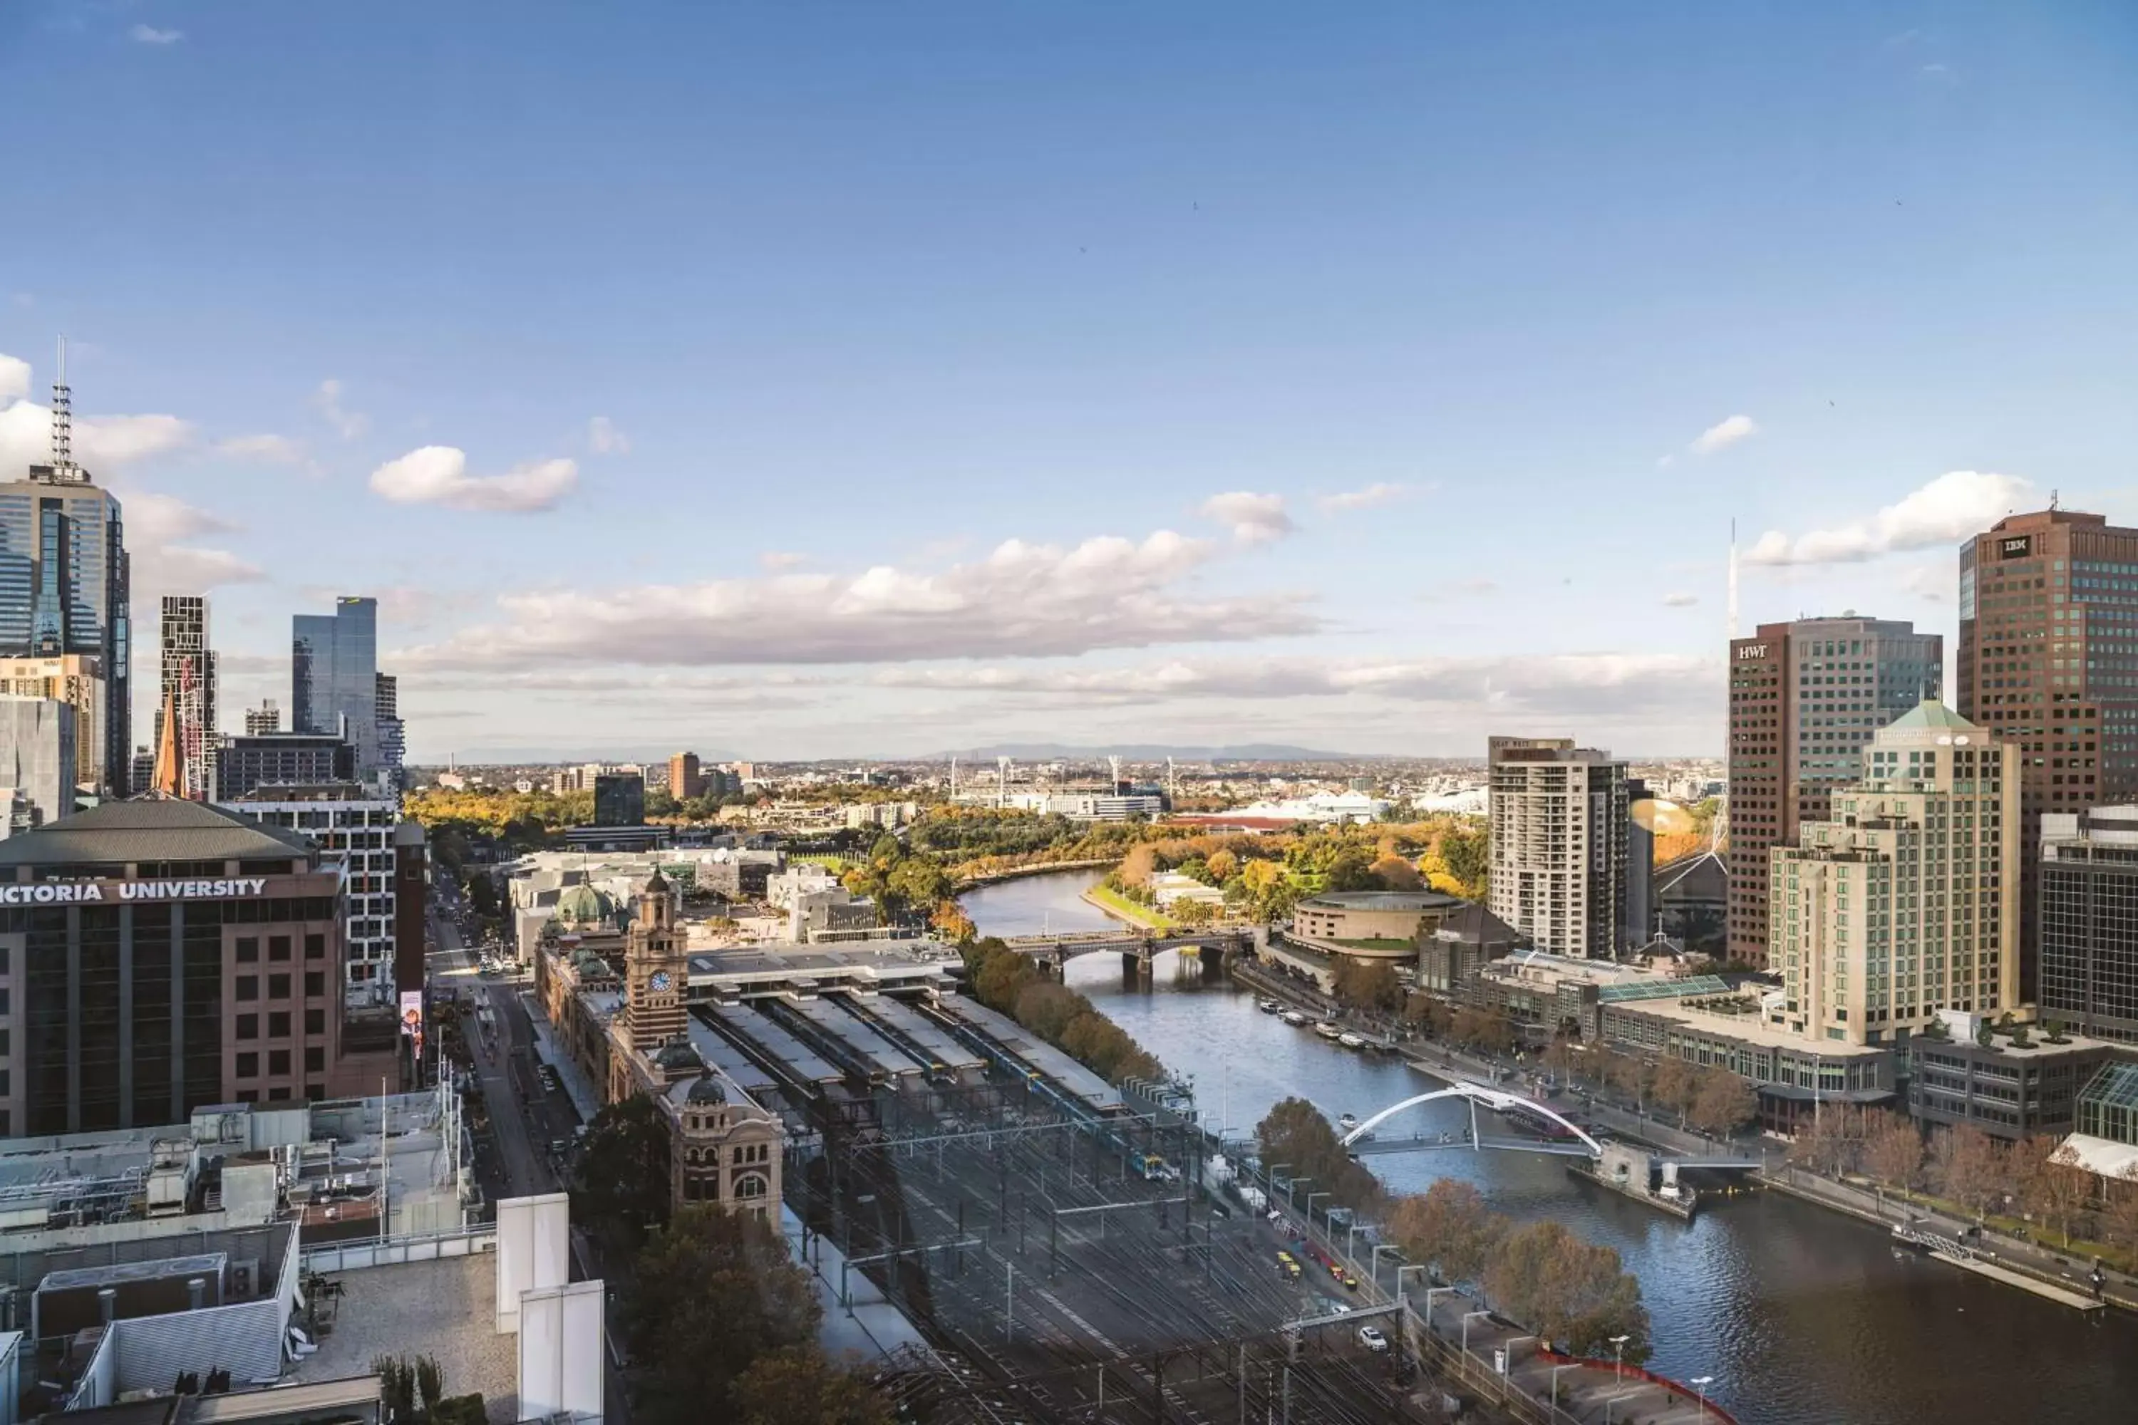
<instances>
[{"instance_id":1,"label":"large dark green tree at bottom edge, left of the rail tracks","mask_svg":"<svg viewBox=\"0 0 2138 1425\"><path fill-rule=\"evenodd\" d=\"M753 1363L812 1352L823 1310L761 1218L693 1203L637 1254L620 1316L641 1369L633 1419L697 1425L742 1414ZM821 1352L817 1363L825 1369Z\"/></svg>"}]
</instances>

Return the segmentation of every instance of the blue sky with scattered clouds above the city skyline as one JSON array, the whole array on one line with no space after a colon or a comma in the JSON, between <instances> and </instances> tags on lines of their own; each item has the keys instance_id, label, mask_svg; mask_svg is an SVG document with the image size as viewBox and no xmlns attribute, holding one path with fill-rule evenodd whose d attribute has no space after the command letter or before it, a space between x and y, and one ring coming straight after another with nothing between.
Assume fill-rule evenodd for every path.
<instances>
[{"instance_id":1,"label":"blue sky with scattered clouds above the city skyline","mask_svg":"<svg viewBox=\"0 0 2138 1425\"><path fill-rule=\"evenodd\" d=\"M2138 523L2125 4L17 0L0 105L0 459L64 331L224 726L363 592L417 758L1719 752L1732 519L1948 632Z\"/></svg>"}]
</instances>

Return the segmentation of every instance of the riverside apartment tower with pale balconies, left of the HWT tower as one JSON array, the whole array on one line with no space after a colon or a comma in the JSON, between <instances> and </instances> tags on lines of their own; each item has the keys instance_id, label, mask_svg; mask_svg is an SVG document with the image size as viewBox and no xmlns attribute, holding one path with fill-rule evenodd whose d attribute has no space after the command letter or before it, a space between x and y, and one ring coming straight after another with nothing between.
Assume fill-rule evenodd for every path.
<instances>
[{"instance_id":1,"label":"riverside apartment tower with pale balconies, left of the HWT tower","mask_svg":"<svg viewBox=\"0 0 2138 1425\"><path fill-rule=\"evenodd\" d=\"M1492 737L1490 908L1539 951L1625 940L1625 763L1571 737Z\"/></svg>"}]
</instances>

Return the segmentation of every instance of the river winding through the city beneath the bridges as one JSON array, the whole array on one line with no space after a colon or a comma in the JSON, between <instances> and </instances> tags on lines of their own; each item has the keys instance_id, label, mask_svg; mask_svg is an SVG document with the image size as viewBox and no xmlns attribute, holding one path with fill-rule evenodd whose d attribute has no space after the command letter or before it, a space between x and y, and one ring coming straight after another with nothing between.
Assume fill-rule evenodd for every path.
<instances>
[{"instance_id":1,"label":"river winding through the city beneath the bridges","mask_svg":"<svg viewBox=\"0 0 2138 1425\"><path fill-rule=\"evenodd\" d=\"M1090 872L1031 876L964 895L994 936L1103 929L1080 899ZM1368 1060L1293 1030L1229 985L1174 985L1163 955L1144 987L1114 955L1069 961L1090 996L1174 1072L1197 1102L1251 1128L1298 1094L1330 1117L1366 1117L1432 1087L1405 1066ZM1458 1105L1413 1111L1415 1128L1454 1128ZM1507 1152L1375 1158L1394 1190L1465 1177L1514 1218L1552 1216L1618 1250L1640 1278L1655 1369L1713 1376L1710 1395L1742 1425L1918 1425L2025 1421L2106 1425L2138 1419L2138 1318L2080 1316L1920 1256L1892 1254L1864 1222L1779 1192L1708 1203L1691 1224L1578 1184L1565 1164Z\"/></svg>"}]
</instances>

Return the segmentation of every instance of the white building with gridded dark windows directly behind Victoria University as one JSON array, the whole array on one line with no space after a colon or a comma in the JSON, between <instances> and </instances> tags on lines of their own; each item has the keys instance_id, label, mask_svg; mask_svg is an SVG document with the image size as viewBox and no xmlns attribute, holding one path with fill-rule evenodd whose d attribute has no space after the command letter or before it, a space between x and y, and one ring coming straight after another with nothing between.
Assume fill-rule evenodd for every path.
<instances>
[{"instance_id":1,"label":"white building with gridded dark windows directly behind Victoria University","mask_svg":"<svg viewBox=\"0 0 2138 1425\"><path fill-rule=\"evenodd\" d=\"M348 870L344 934L346 989L359 1004L396 1004L396 874L400 797L381 797L357 782L316 786L263 784L227 803L229 810L310 840ZM417 978L408 989L421 989Z\"/></svg>"}]
</instances>

